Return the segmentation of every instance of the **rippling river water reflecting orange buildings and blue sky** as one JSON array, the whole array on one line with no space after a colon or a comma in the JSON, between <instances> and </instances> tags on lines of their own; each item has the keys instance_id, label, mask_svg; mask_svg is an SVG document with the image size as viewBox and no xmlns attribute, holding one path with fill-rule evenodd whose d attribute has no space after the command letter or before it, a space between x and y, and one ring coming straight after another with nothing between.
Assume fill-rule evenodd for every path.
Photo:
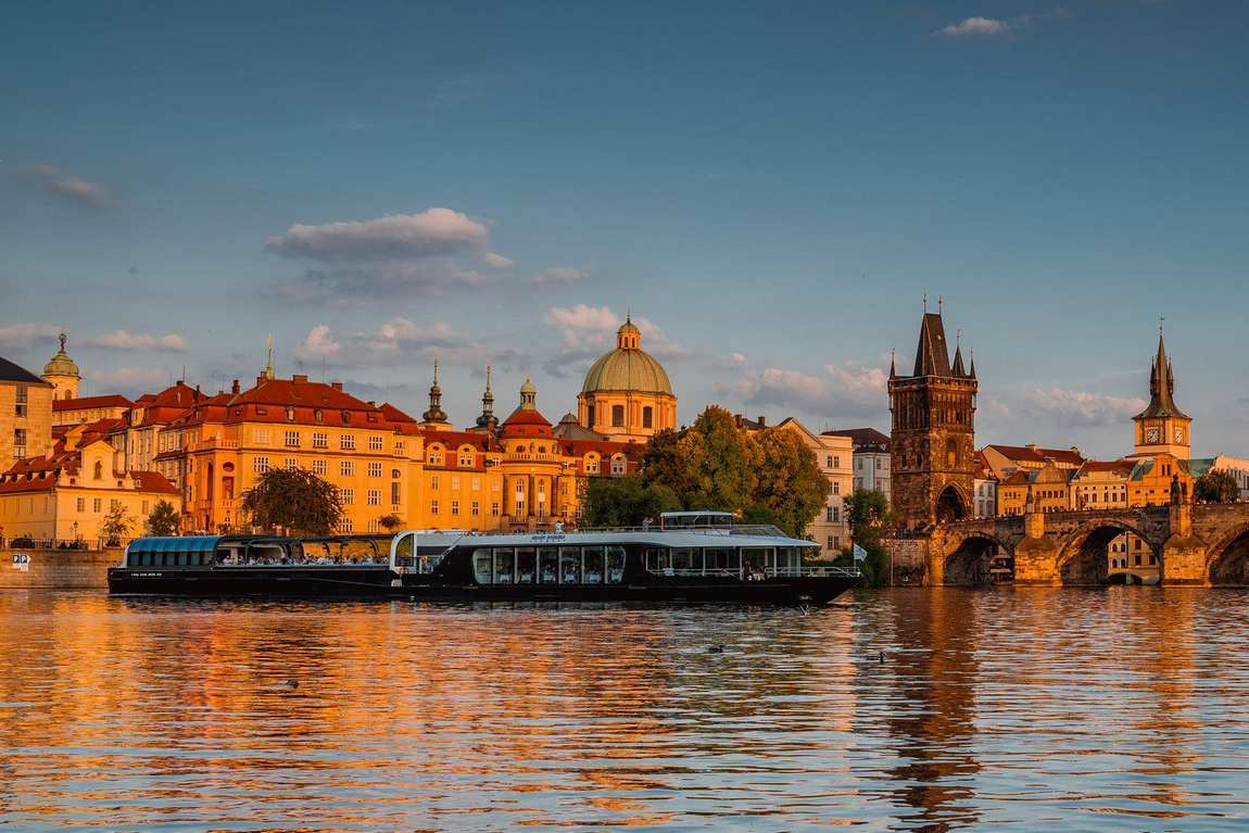
<instances>
[{"instance_id":1,"label":"rippling river water reflecting orange buildings and blue sky","mask_svg":"<svg viewBox=\"0 0 1249 833\"><path fill-rule=\"evenodd\" d=\"M1249 596L0 593L0 828L590 826L1247 829Z\"/></svg>"}]
</instances>

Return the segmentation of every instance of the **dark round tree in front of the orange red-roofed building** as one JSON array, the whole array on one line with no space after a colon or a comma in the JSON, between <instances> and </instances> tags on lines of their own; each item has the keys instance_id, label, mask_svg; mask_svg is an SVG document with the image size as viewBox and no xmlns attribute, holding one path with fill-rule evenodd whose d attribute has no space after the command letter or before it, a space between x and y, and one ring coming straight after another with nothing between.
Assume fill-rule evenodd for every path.
<instances>
[{"instance_id":1,"label":"dark round tree in front of the orange red-roofed building","mask_svg":"<svg viewBox=\"0 0 1249 833\"><path fill-rule=\"evenodd\" d=\"M270 468L242 495L242 511L265 530L330 535L342 520L333 485L302 468Z\"/></svg>"}]
</instances>

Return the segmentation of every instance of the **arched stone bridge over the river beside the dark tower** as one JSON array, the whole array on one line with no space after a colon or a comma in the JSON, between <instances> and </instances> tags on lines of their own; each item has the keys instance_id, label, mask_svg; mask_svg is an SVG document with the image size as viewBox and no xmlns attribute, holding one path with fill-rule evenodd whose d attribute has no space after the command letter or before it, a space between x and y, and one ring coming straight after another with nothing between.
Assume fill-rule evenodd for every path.
<instances>
[{"instance_id":1,"label":"arched stone bridge over the river beside the dark tower","mask_svg":"<svg viewBox=\"0 0 1249 833\"><path fill-rule=\"evenodd\" d=\"M1015 583L1100 584L1107 545L1124 532L1153 551L1163 584L1249 586L1249 503L1187 502L943 523L927 540L922 581L974 583L995 546L1014 559Z\"/></svg>"}]
</instances>

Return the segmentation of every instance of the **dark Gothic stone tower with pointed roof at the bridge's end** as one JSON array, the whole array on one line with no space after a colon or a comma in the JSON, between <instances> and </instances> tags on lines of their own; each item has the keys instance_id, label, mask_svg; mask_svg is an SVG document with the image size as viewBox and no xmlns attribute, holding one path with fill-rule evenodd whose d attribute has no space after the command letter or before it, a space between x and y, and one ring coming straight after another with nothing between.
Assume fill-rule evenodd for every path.
<instances>
[{"instance_id":1,"label":"dark Gothic stone tower with pointed roof at the bridge's end","mask_svg":"<svg viewBox=\"0 0 1249 833\"><path fill-rule=\"evenodd\" d=\"M924 530L970 515L975 391L975 360L964 370L962 345L955 345L950 366L940 312L926 310L914 372L898 376L889 365L891 497L902 530Z\"/></svg>"}]
</instances>

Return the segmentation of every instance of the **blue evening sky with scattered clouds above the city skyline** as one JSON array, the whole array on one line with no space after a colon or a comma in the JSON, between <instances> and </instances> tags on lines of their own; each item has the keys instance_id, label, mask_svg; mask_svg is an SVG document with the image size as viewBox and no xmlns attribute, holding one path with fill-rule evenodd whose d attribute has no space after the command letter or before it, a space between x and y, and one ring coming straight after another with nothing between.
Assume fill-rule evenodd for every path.
<instances>
[{"instance_id":1,"label":"blue evening sky with scattered clouds above the city skyline","mask_svg":"<svg viewBox=\"0 0 1249 833\"><path fill-rule=\"evenodd\" d=\"M0 353L551 418L632 308L708 402L888 426L945 298L979 442L1130 451L1158 316L1249 456L1249 6L14 4Z\"/></svg>"}]
</instances>

